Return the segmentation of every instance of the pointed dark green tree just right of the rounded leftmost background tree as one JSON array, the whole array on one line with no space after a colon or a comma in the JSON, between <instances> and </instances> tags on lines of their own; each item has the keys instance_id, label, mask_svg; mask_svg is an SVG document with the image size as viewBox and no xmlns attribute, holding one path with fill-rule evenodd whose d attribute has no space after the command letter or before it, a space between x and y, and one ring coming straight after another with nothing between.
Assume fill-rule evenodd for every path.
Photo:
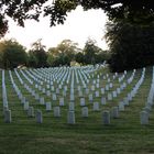
<instances>
[{"instance_id":1,"label":"pointed dark green tree just right of the rounded leftmost background tree","mask_svg":"<svg viewBox=\"0 0 154 154\"><path fill-rule=\"evenodd\" d=\"M31 67L46 67L47 66L47 53L45 46L37 40L32 44L32 48L29 51L29 65Z\"/></svg>"}]
</instances>

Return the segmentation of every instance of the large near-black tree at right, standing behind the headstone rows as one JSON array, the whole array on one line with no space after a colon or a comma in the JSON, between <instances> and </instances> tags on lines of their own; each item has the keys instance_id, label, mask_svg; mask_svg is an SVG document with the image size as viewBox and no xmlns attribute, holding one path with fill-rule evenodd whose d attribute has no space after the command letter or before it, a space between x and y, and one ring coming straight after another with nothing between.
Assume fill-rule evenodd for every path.
<instances>
[{"instance_id":1,"label":"large near-black tree at right, standing behind the headstone rows","mask_svg":"<svg viewBox=\"0 0 154 154\"><path fill-rule=\"evenodd\" d=\"M154 65L154 24L108 23L112 72Z\"/></svg>"}]
</instances>

